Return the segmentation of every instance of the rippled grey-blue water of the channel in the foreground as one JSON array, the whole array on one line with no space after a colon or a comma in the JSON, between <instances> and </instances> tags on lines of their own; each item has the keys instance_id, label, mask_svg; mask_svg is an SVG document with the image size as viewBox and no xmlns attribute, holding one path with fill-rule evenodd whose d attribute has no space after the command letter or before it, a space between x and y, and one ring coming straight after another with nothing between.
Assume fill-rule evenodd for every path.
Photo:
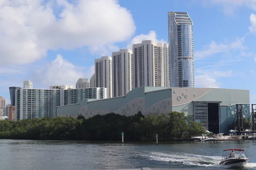
<instances>
[{"instance_id":1,"label":"rippled grey-blue water of the channel in the foreground","mask_svg":"<svg viewBox=\"0 0 256 170\"><path fill-rule=\"evenodd\" d=\"M222 168L222 150L243 148L244 170L256 170L256 140L119 144L0 140L1 170L106 170L118 168Z\"/></svg>"}]
</instances>

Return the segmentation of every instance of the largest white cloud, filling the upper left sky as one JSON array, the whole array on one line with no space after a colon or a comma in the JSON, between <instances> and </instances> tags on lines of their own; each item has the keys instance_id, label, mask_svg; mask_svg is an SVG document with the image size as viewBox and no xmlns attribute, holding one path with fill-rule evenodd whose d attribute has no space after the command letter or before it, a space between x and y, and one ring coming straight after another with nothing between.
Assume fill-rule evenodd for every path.
<instances>
[{"instance_id":1,"label":"largest white cloud, filling the upper left sky","mask_svg":"<svg viewBox=\"0 0 256 170\"><path fill-rule=\"evenodd\" d=\"M1 0L0 65L31 63L49 49L111 49L134 31L130 11L117 0Z\"/></svg>"}]
</instances>

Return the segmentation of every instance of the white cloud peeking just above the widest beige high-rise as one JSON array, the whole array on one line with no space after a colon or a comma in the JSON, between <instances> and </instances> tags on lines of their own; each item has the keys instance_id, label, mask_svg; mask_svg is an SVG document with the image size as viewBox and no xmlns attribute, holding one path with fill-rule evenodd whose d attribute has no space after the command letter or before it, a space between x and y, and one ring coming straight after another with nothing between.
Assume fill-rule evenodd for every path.
<instances>
[{"instance_id":1,"label":"white cloud peeking just above the widest beige high-rise","mask_svg":"<svg viewBox=\"0 0 256 170\"><path fill-rule=\"evenodd\" d=\"M133 44L138 44L141 43L143 40L152 40L154 42L161 42L161 43L167 43L165 40L161 39L158 40L157 39L157 33L156 31L149 31L148 34L140 34L135 36L130 43L127 45L126 48L132 49L132 45Z\"/></svg>"}]
</instances>

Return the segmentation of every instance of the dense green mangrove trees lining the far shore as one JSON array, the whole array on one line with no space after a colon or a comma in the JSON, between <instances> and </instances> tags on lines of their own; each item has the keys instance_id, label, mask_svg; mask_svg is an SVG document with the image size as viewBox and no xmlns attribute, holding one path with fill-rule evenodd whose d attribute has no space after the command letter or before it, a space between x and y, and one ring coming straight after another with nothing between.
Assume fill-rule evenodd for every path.
<instances>
[{"instance_id":1,"label":"dense green mangrove trees lining the far shore","mask_svg":"<svg viewBox=\"0 0 256 170\"><path fill-rule=\"evenodd\" d=\"M139 111L134 116L116 113L95 115L88 119L79 115L42 119L23 119L16 122L0 120L0 139L76 140L76 141L153 142L190 140L201 136L205 129L184 113L147 115Z\"/></svg>"}]
</instances>

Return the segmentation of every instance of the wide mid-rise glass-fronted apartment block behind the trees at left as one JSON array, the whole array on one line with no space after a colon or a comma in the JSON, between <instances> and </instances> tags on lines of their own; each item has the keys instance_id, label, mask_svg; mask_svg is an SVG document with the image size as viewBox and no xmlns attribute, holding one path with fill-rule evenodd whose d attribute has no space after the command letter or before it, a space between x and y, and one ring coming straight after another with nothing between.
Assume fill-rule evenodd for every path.
<instances>
[{"instance_id":1,"label":"wide mid-rise glass-fronted apartment block behind the trees at left","mask_svg":"<svg viewBox=\"0 0 256 170\"><path fill-rule=\"evenodd\" d=\"M106 99L107 94L107 88L17 89L15 120L56 117L57 106L75 104L83 99Z\"/></svg>"}]
</instances>

